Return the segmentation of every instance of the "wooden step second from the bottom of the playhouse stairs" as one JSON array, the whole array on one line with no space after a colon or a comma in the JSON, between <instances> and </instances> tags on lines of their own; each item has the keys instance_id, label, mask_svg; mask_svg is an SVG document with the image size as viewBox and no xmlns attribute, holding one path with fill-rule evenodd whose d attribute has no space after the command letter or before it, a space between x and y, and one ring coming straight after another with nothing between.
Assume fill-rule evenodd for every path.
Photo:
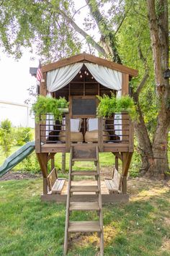
<instances>
[{"instance_id":1,"label":"wooden step second from the bottom of the playhouse stairs","mask_svg":"<svg viewBox=\"0 0 170 256\"><path fill-rule=\"evenodd\" d=\"M98 202L71 202L69 210L99 210Z\"/></svg>"}]
</instances>

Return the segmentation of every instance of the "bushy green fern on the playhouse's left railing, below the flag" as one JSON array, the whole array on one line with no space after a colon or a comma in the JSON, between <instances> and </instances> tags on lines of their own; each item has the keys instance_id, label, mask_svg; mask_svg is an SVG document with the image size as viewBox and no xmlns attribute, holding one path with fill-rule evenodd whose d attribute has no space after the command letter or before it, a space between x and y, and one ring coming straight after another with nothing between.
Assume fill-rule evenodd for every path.
<instances>
[{"instance_id":1,"label":"bushy green fern on the playhouse's left railing, below the flag","mask_svg":"<svg viewBox=\"0 0 170 256\"><path fill-rule=\"evenodd\" d=\"M40 122L46 119L46 114L53 115L53 119L62 121L63 113L68 113L68 101L66 98L50 98L39 95L37 101L32 105L35 113L35 121Z\"/></svg>"}]
</instances>

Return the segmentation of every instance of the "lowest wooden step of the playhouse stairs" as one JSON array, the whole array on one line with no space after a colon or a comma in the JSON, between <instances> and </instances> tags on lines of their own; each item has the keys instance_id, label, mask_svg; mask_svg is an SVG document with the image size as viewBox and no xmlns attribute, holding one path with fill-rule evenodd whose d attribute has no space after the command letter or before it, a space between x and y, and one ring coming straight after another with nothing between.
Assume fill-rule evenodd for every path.
<instances>
[{"instance_id":1,"label":"lowest wooden step of the playhouse stairs","mask_svg":"<svg viewBox=\"0 0 170 256\"><path fill-rule=\"evenodd\" d=\"M100 232L99 221L70 221L68 232Z\"/></svg>"}]
</instances>

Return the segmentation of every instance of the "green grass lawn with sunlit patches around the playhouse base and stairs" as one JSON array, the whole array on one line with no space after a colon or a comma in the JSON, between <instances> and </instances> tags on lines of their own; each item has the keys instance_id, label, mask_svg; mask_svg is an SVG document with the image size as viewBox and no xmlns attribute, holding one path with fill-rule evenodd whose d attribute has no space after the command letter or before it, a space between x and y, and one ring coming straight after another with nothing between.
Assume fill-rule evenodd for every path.
<instances>
[{"instance_id":1,"label":"green grass lawn with sunlit patches around the playhouse base and stairs","mask_svg":"<svg viewBox=\"0 0 170 256\"><path fill-rule=\"evenodd\" d=\"M128 204L104 205L104 255L170 255L169 186L137 178L128 190ZM66 206L41 202L41 192L40 178L0 182L0 255L63 255ZM73 235L68 255L98 255L98 243L96 234Z\"/></svg>"}]
</instances>

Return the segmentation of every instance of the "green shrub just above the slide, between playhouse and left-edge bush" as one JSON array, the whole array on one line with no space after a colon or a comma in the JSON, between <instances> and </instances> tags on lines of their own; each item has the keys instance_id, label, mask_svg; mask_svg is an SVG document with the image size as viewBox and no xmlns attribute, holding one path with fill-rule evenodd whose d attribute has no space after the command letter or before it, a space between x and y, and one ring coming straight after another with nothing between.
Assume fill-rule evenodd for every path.
<instances>
[{"instance_id":1,"label":"green shrub just above the slide, between playhouse and left-edge bush","mask_svg":"<svg viewBox=\"0 0 170 256\"><path fill-rule=\"evenodd\" d=\"M15 130L15 140L16 144L19 146L24 145L25 143L32 141L32 130L29 127L26 128L17 128Z\"/></svg>"}]
</instances>

